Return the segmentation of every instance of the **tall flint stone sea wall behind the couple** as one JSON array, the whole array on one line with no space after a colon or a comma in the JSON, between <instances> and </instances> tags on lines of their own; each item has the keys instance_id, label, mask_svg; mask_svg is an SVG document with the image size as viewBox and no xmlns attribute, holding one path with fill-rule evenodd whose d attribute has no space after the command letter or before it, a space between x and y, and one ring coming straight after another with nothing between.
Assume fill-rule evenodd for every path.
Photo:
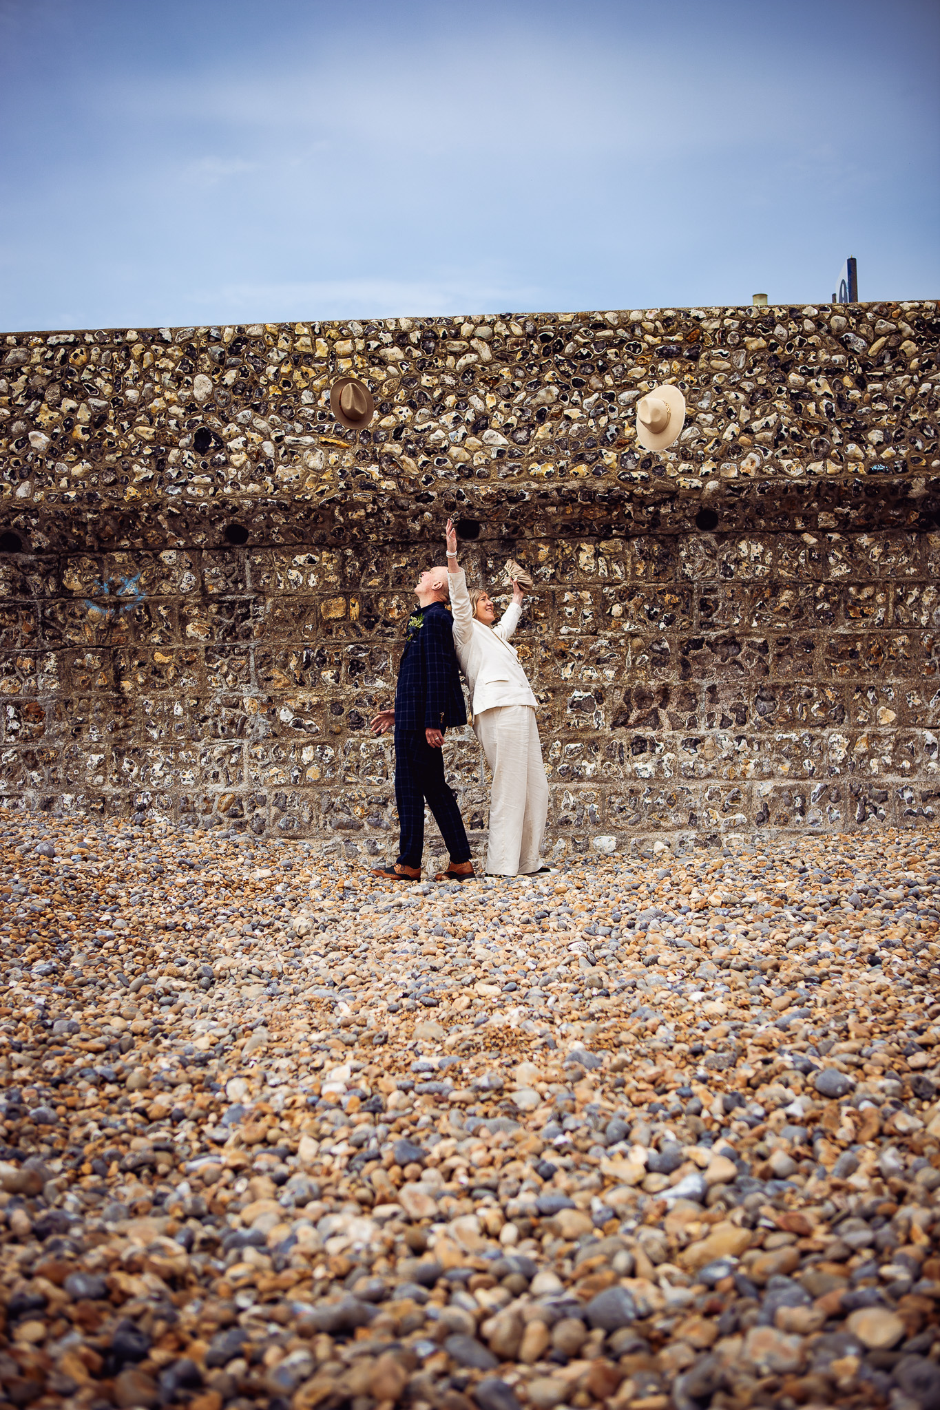
<instances>
[{"instance_id":1,"label":"tall flint stone sea wall behind the couple","mask_svg":"<svg viewBox=\"0 0 940 1410\"><path fill-rule=\"evenodd\" d=\"M366 721L452 515L471 581L538 584L551 846L933 823L939 333L920 302L8 334L3 798L392 856ZM648 454L661 381L688 420ZM448 767L482 835L469 732Z\"/></svg>"}]
</instances>

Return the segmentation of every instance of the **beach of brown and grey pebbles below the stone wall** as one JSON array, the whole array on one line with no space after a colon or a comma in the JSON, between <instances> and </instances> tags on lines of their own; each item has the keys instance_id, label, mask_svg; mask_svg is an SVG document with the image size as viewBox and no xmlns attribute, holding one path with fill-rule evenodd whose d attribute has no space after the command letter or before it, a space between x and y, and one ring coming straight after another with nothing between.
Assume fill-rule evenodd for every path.
<instances>
[{"instance_id":1,"label":"beach of brown and grey pebbles below the stone wall","mask_svg":"<svg viewBox=\"0 0 940 1410\"><path fill-rule=\"evenodd\" d=\"M940 1407L936 835L0 859L8 1403Z\"/></svg>"}]
</instances>

